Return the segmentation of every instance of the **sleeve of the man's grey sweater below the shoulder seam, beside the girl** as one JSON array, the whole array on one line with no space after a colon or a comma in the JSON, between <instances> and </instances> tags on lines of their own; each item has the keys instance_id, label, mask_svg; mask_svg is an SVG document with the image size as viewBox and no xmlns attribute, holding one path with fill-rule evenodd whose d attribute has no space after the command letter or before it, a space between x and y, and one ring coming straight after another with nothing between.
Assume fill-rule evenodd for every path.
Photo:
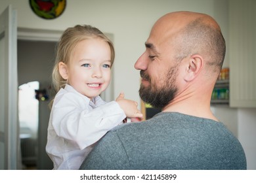
<instances>
[{"instance_id":1,"label":"sleeve of the man's grey sweater below the shoulder seam, beside the girl","mask_svg":"<svg viewBox=\"0 0 256 183\"><path fill-rule=\"evenodd\" d=\"M109 131L89 156L83 161L81 170L127 170L129 158L116 131Z\"/></svg>"}]
</instances>

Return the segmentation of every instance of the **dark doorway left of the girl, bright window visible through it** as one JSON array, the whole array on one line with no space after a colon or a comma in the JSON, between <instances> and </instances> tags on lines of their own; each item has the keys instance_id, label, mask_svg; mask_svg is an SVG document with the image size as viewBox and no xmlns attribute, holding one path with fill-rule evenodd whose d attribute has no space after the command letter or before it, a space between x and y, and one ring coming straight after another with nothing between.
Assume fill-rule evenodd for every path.
<instances>
[{"instance_id":1,"label":"dark doorway left of the girl, bright window visible through it","mask_svg":"<svg viewBox=\"0 0 256 183\"><path fill-rule=\"evenodd\" d=\"M54 65L55 46L54 41L18 39L18 86L20 90L26 89L30 93L29 97L20 98L23 100L19 100L18 105L26 106L27 111L30 110L31 105L35 105L33 115L30 114L30 117L34 116L33 120L19 116L22 118L20 120L20 142L22 163L25 164L25 169L53 169L53 163L45 152L45 145L50 116L48 105L51 100L51 72ZM49 97L45 100L36 99L35 90L45 90ZM19 114L20 112L21 110Z\"/></svg>"}]
</instances>

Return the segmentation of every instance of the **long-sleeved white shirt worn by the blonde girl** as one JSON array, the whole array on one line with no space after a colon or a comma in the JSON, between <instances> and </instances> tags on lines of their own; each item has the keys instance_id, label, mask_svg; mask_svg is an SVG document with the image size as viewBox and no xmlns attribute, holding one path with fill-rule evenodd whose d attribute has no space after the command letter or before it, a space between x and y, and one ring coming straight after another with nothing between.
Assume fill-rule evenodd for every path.
<instances>
[{"instance_id":1,"label":"long-sleeved white shirt worn by the blonde girl","mask_svg":"<svg viewBox=\"0 0 256 183\"><path fill-rule=\"evenodd\" d=\"M125 118L116 101L100 96L91 101L66 84L54 98L48 126L46 152L53 169L79 169L95 142Z\"/></svg>"}]
</instances>

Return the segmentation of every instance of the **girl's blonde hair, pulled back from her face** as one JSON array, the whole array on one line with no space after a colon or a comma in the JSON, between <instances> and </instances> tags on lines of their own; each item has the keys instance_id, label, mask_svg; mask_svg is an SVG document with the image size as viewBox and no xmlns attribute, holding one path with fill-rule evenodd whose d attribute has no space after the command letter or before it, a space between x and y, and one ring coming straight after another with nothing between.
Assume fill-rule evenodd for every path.
<instances>
[{"instance_id":1,"label":"girl's blonde hair, pulled back from her face","mask_svg":"<svg viewBox=\"0 0 256 183\"><path fill-rule=\"evenodd\" d=\"M74 52L74 48L77 43L85 39L92 38L100 38L108 43L111 51L111 66L113 65L115 58L114 45L112 41L110 41L110 39L108 39L108 37L102 33L102 31L96 27L92 27L91 25L75 25L74 27L69 27L64 31L56 46L56 59L52 73L54 93L58 92L60 88L64 88L67 82L67 80L62 78L60 75L58 63L62 61L63 63L68 64L70 61L70 56ZM53 101L50 103L50 107L52 104Z\"/></svg>"}]
</instances>

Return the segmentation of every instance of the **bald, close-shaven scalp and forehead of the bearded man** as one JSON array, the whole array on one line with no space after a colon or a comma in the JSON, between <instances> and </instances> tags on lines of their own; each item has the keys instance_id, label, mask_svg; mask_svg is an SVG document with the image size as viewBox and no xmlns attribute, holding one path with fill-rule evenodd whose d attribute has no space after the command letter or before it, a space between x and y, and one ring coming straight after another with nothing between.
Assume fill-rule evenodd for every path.
<instances>
[{"instance_id":1,"label":"bald, close-shaven scalp and forehead of the bearded man","mask_svg":"<svg viewBox=\"0 0 256 183\"><path fill-rule=\"evenodd\" d=\"M157 36L159 44L173 44L177 60L200 54L211 71L221 71L226 46L221 28L211 16L198 12L170 12L154 24L150 35Z\"/></svg>"}]
</instances>

